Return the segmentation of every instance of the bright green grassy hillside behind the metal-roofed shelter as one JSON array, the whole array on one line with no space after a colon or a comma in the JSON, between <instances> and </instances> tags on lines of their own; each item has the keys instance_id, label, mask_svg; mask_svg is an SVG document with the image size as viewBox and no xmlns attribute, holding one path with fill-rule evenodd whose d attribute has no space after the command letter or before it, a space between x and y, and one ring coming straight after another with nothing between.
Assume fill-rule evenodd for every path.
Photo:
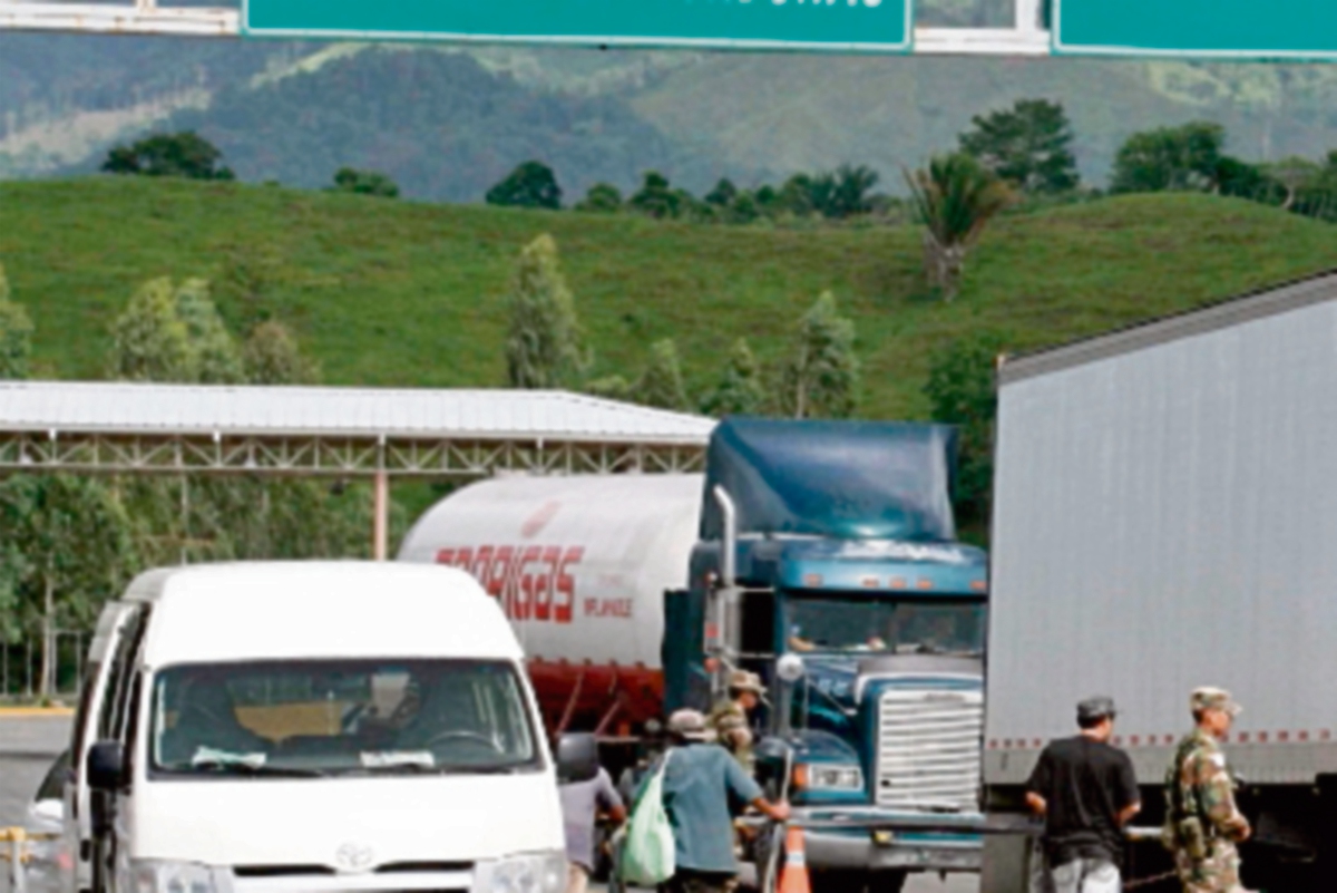
<instances>
[{"instance_id":1,"label":"bright green grassy hillside behind the metal-roofed shelter","mask_svg":"<svg viewBox=\"0 0 1337 893\"><path fill-rule=\"evenodd\" d=\"M0 263L37 324L39 372L103 373L111 318L158 275L267 258L269 302L330 384L499 385L520 246L558 239L600 373L678 340L707 388L747 336L778 356L824 289L858 325L861 414L919 417L932 352L972 330L1068 341L1337 266L1337 229L1209 195L1106 199L1000 219L949 305L923 295L919 233L751 229L508 211L135 178L0 184Z\"/></svg>"}]
</instances>

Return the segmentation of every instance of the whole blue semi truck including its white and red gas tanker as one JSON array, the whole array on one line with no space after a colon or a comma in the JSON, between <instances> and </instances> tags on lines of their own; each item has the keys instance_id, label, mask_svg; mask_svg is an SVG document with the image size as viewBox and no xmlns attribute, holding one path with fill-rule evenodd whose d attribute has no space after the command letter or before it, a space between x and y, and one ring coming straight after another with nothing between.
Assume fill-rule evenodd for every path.
<instances>
[{"instance_id":1,"label":"whole blue semi truck including its white and red gas tanker","mask_svg":"<svg viewBox=\"0 0 1337 893\"><path fill-rule=\"evenodd\" d=\"M400 557L477 576L550 731L595 733L615 773L651 721L759 674L758 775L808 826L817 893L894 893L980 868L988 592L956 541L952 452L943 426L729 418L705 475L481 481Z\"/></svg>"}]
</instances>

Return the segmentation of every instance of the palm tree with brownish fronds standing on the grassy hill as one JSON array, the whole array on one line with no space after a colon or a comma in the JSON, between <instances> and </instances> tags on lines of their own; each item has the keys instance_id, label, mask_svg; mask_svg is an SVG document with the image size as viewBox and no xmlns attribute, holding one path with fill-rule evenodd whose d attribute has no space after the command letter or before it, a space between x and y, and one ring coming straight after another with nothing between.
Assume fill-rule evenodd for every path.
<instances>
[{"instance_id":1,"label":"palm tree with brownish fronds standing on the grassy hill","mask_svg":"<svg viewBox=\"0 0 1337 893\"><path fill-rule=\"evenodd\" d=\"M965 255L1013 201L1012 190L964 152L933 158L905 172L915 214L924 225L924 271L944 299L956 297Z\"/></svg>"}]
</instances>

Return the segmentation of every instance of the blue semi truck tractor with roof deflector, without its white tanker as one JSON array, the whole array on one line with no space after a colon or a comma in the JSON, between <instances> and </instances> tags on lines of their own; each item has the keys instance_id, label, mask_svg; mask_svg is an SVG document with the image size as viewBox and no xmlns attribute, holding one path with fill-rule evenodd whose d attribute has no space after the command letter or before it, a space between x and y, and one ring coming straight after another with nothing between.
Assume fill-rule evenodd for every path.
<instances>
[{"instance_id":1,"label":"blue semi truck tractor with roof deflector, without its white tanker","mask_svg":"<svg viewBox=\"0 0 1337 893\"><path fill-rule=\"evenodd\" d=\"M710 442L689 586L664 599L666 709L762 676L758 777L808 826L817 893L980 868L987 557L956 541L953 437L731 418Z\"/></svg>"}]
</instances>

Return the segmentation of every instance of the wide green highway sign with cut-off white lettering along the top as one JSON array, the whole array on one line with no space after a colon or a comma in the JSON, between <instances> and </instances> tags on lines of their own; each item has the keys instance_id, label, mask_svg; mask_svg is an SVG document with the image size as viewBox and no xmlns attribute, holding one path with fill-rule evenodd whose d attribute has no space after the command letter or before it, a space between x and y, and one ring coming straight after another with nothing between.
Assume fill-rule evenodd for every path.
<instances>
[{"instance_id":1,"label":"wide green highway sign with cut-off white lettering along the top","mask_svg":"<svg viewBox=\"0 0 1337 893\"><path fill-rule=\"evenodd\" d=\"M913 0L245 0L242 33L909 52Z\"/></svg>"}]
</instances>

